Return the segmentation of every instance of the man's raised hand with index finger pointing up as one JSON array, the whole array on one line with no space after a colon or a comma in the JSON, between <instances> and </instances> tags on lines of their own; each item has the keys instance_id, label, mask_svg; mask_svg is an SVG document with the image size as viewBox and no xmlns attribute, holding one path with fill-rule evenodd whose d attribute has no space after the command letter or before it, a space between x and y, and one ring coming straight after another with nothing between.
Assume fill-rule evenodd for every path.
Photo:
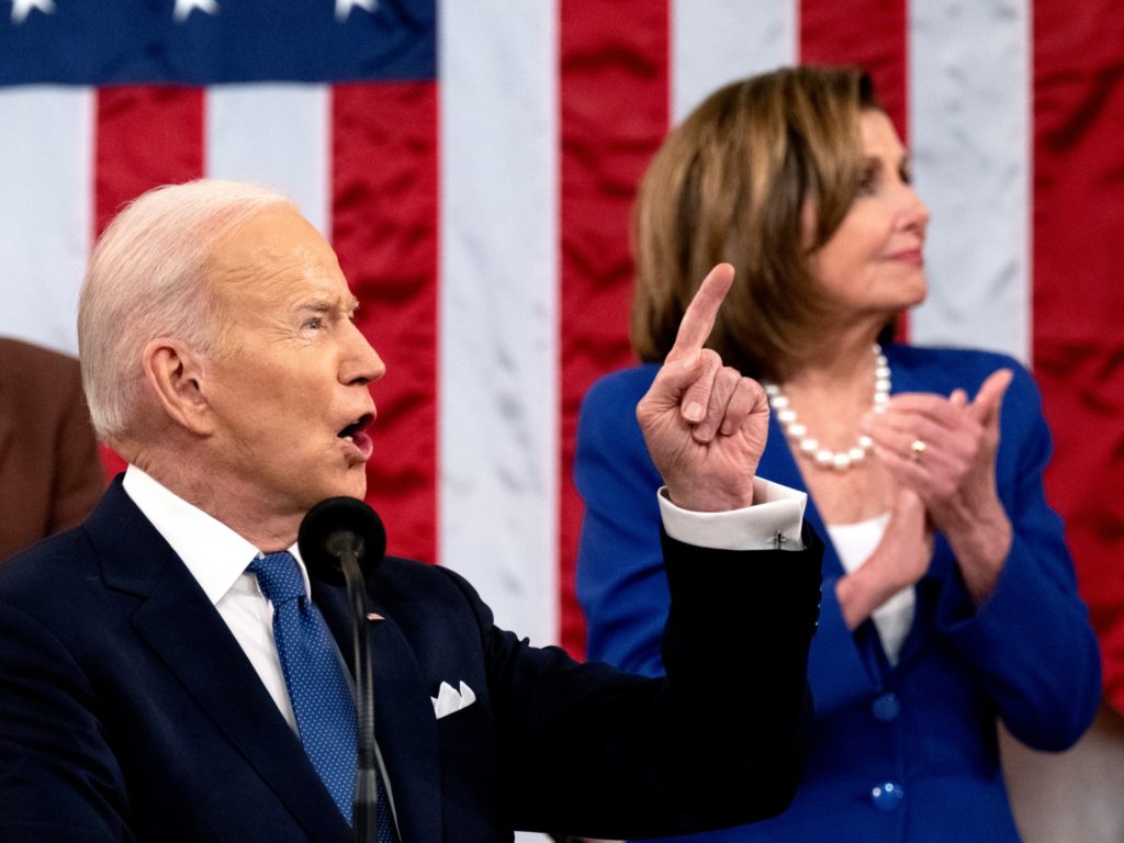
<instances>
[{"instance_id":1,"label":"man's raised hand with index finger pointing up","mask_svg":"<svg viewBox=\"0 0 1124 843\"><path fill-rule=\"evenodd\" d=\"M676 343L636 407L649 453L671 501L723 511L753 502L753 477L769 430L761 386L704 348L734 268L715 266L691 300Z\"/></svg>"}]
</instances>

